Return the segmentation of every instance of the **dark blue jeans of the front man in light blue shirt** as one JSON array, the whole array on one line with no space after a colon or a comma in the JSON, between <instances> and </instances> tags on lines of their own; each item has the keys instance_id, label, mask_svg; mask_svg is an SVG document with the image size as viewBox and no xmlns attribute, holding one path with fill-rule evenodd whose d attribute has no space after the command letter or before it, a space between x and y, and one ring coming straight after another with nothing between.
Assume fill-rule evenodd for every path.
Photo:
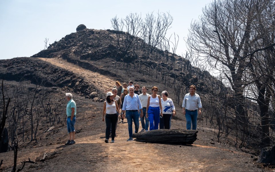
<instances>
[{"instance_id":1,"label":"dark blue jeans of the front man in light blue shirt","mask_svg":"<svg viewBox=\"0 0 275 172\"><path fill-rule=\"evenodd\" d=\"M133 121L135 124L135 133L138 132L138 127L140 126L140 123L138 121L139 115L137 111L129 111L126 110L126 118L127 118L127 123L128 123L128 132L129 132L129 137L132 137L133 135Z\"/></svg>"}]
</instances>

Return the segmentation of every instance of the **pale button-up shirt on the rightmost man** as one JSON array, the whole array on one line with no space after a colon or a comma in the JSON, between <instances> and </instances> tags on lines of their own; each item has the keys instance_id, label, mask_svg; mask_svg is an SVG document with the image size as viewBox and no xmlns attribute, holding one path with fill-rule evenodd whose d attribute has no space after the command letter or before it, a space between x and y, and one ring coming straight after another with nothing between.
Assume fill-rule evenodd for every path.
<instances>
[{"instance_id":1,"label":"pale button-up shirt on the rightmost man","mask_svg":"<svg viewBox=\"0 0 275 172\"><path fill-rule=\"evenodd\" d=\"M187 93L184 96L182 107L185 107L187 110L197 110L198 107L202 108L201 98L198 94L191 96L190 93Z\"/></svg>"}]
</instances>

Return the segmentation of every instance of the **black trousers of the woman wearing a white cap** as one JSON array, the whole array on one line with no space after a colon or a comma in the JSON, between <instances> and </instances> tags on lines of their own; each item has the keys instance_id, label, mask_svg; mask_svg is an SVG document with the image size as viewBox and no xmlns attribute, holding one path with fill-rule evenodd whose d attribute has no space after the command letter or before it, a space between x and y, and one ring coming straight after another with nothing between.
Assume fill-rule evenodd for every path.
<instances>
[{"instance_id":1,"label":"black trousers of the woman wearing a white cap","mask_svg":"<svg viewBox=\"0 0 275 172\"><path fill-rule=\"evenodd\" d=\"M117 114L106 114L105 122L106 122L105 138L109 139L110 130L111 130L111 126L112 126L111 138L114 140L115 139L115 128L116 128L116 124L117 124Z\"/></svg>"}]
</instances>

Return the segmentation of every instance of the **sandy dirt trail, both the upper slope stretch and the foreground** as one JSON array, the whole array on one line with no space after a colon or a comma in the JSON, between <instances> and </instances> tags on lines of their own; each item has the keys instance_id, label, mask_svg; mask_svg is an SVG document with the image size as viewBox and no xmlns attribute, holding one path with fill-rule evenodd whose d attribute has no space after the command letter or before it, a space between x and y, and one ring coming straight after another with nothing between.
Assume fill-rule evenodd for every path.
<instances>
[{"instance_id":1,"label":"sandy dirt trail, both the upper slope stretch and the foreground","mask_svg":"<svg viewBox=\"0 0 275 172\"><path fill-rule=\"evenodd\" d=\"M40 58L45 60L45 58ZM48 62L84 76L88 82L95 83L101 90L114 86L115 81L94 73L62 59L50 58ZM79 98L81 99L81 98ZM217 148L209 144L213 134L199 132L193 145L151 144L136 141L127 142L129 138L127 119L117 124L115 143L105 143L105 122L100 118L102 108L81 112L76 126L92 125L93 127L76 134L76 144L54 144L49 146L23 149L18 153L18 164L24 159L40 159L44 152L61 152L51 159L37 165L26 166L23 171L262 171L255 167L251 155L231 151L229 148ZM98 117L88 120L91 111ZM86 115L88 114L88 115ZM100 121L101 119L101 121ZM139 131L141 130L141 123ZM172 120L171 129L184 128L181 121ZM133 124L134 131L134 124ZM211 132L211 131L209 131ZM66 125L59 130L61 140L66 142ZM50 138L51 139L51 138ZM50 140L49 139L49 140ZM52 138L56 140L56 138ZM111 138L110 138L111 140ZM63 142L63 141L62 141ZM208 145L207 145L208 144ZM13 152L1 154L4 171L10 171ZM9 168L8 168L9 167Z\"/></svg>"}]
</instances>

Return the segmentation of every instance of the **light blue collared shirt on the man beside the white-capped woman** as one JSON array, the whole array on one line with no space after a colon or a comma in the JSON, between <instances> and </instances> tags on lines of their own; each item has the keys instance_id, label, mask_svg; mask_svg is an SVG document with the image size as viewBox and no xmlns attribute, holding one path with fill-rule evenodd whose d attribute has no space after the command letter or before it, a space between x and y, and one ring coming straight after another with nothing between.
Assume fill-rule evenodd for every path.
<instances>
[{"instance_id":1,"label":"light blue collared shirt on the man beside the white-capped woman","mask_svg":"<svg viewBox=\"0 0 275 172\"><path fill-rule=\"evenodd\" d=\"M138 110L142 109L142 105L140 103L140 98L137 94L134 93L133 98L127 94L123 101L122 110Z\"/></svg>"}]
</instances>

